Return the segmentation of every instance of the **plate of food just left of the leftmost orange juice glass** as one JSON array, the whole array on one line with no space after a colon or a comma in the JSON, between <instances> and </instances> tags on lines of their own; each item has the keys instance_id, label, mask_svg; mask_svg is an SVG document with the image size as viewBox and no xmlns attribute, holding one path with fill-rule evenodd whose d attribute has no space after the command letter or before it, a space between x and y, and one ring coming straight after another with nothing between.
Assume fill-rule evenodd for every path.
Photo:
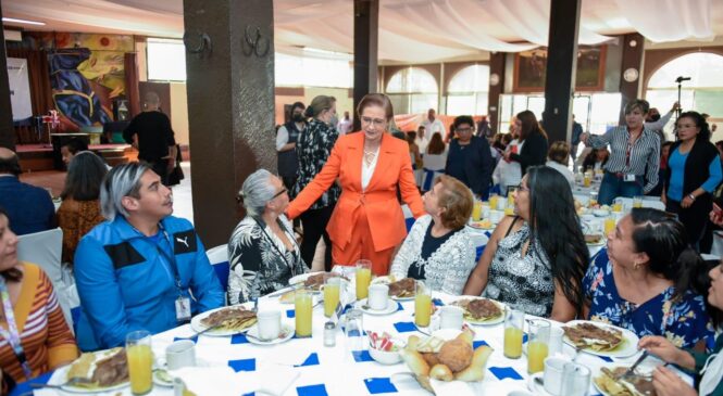
<instances>
[{"instance_id":1,"label":"plate of food just left of the leftmost orange juice glass","mask_svg":"<svg viewBox=\"0 0 723 396\"><path fill-rule=\"evenodd\" d=\"M87 394L124 388L129 384L125 348L85 353L71 365L58 368L49 384L61 385L66 392Z\"/></svg>"}]
</instances>

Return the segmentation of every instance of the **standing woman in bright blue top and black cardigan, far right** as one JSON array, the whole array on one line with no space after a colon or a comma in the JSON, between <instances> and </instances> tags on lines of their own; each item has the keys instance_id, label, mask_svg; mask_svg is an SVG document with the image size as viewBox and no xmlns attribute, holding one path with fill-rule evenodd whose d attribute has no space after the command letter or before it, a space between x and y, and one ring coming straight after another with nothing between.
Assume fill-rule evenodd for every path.
<instances>
[{"instance_id":1,"label":"standing woman in bright blue top and black cardigan, far right","mask_svg":"<svg viewBox=\"0 0 723 396\"><path fill-rule=\"evenodd\" d=\"M678 140L670 148L662 200L666 212L677 214L688 242L697 248L713 208L712 193L723 179L721 157L702 115L685 112L675 125Z\"/></svg>"}]
</instances>

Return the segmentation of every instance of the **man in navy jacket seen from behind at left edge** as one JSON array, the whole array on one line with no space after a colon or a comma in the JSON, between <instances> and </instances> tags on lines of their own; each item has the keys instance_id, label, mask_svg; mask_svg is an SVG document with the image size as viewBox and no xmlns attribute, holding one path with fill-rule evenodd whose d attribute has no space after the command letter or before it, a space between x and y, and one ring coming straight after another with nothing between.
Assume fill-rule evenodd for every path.
<instances>
[{"instance_id":1,"label":"man in navy jacket seen from behind at left edge","mask_svg":"<svg viewBox=\"0 0 723 396\"><path fill-rule=\"evenodd\" d=\"M0 148L0 206L18 235L55 228L55 206L47 190L20 181L17 155Z\"/></svg>"}]
</instances>

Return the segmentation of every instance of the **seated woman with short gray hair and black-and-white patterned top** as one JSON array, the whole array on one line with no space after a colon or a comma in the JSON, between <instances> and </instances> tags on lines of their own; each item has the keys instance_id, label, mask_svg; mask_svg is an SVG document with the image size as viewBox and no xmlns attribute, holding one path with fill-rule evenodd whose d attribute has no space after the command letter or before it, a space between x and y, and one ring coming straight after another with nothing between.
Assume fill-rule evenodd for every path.
<instances>
[{"instance_id":1,"label":"seated woman with short gray hair and black-and-white patterned top","mask_svg":"<svg viewBox=\"0 0 723 396\"><path fill-rule=\"evenodd\" d=\"M291 222L284 215L289 195L266 169L251 174L239 191L246 217L228 241L228 304L239 304L288 286L307 272Z\"/></svg>"}]
</instances>

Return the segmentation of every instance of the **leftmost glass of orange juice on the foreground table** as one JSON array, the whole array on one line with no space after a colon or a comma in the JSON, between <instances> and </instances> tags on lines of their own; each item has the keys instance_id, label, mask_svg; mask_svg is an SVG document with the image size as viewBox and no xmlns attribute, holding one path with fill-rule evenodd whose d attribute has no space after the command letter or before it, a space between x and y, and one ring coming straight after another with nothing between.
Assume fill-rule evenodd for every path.
<instances>
[{"instance_id":1,"label":"leftmost glass of orange juice on the foreground table","mask_svg":"<svg viewBox=\"0 0 723 396\"><path fill-rule=\"evenodd\" d=\"M130 332L125 337L125 353L128 360L130 392L146 395L153 389L153 352L151 333L146 330Z\"/></svg>"}]
</instances>

